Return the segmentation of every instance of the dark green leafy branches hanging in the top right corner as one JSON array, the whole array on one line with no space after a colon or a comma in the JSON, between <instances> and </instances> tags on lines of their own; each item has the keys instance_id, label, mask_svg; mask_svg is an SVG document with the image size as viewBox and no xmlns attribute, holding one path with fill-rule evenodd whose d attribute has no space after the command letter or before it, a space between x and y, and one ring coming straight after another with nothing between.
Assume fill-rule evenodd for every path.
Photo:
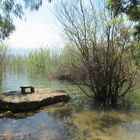
<instances>
[{"instance_id":1,"label":"dark green leafy branches hanging in the top right corner","mask_svg":"<svg viewBox=\"0 0 140 140\"><path fill-rule=\"evenodd\" d=\"M107 7L114 12L114 16L126 14L135 21L134 35L140 39L140 0L107 0Z\"/></svg>"}]
</instances>

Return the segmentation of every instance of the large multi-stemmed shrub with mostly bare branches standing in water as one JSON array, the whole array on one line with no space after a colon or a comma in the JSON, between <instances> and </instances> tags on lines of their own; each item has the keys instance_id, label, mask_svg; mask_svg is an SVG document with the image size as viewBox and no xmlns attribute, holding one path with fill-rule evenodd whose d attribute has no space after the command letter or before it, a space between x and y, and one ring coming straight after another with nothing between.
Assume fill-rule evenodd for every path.
<instances>
[{"instance_id":1,"label":"large multi-stemmed shrub with mostly bare branches standing in water","mask_svg":"<svg viewBox=\"0 0 140 140\"><path fill-rule=\"evenodd\" d=\"M114 106L133 87L135 69L129 53L129 28L105 8L87 5L83 0L63 1L57 17L69 44L77 48L81 64L72 64L80 81L71 82L91 89L86 95L107 106ZM113 13L113 11L112 11ZM79 60L78 60L79 61ZM82 74L82 75L81 75ZM83 76L84 74L84 76Z\"/></svg>"}]
</instances>

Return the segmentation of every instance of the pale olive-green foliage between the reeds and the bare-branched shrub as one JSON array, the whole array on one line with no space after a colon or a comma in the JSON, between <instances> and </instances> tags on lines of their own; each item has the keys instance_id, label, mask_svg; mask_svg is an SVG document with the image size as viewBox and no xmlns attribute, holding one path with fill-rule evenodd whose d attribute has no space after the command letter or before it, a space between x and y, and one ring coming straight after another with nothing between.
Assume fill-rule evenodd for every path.
<instances>
[{"instance_id":1,"label":"pale olive-green foliage between the reeds and the bare-branched shrub","mask_svg":"<svg viewBox=\"0 0 140 140\"><path fill-rule=\"evenodd\" d=\"M79 55L77 55L79 54ZM62 75L72 75L76 78L75 66L81 65L79 50L71 45L66 45L55 60L54 73L57 77Z\"/></svg>"}]
</instances>

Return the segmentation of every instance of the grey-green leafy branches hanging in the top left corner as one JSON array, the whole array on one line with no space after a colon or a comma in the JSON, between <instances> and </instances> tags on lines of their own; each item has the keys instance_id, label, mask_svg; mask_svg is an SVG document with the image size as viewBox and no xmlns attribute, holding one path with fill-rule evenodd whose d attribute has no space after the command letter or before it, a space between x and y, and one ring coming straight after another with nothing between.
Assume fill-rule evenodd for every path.
<instances>
[{"instance_id":1,"label":"grey-green leafy branches hanging in the top left corner","mask_svg":"<svg viewBox=\"0 0 140 140\"><path fill-rule=\"evenodd\" d=\"M51 2L51 0L48 0ZM14 30L13 18L22 18L25 9L38 10L42 0L1 0L0 1L0 39L5 39Z\"/></svg>"}]
</instances>

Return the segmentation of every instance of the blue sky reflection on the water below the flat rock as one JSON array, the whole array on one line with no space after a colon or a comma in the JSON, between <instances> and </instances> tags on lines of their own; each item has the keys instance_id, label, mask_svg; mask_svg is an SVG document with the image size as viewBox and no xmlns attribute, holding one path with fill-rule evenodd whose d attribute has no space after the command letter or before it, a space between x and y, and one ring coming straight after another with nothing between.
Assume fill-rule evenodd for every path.
<instances>
[{"instance_id":1,"label":"blue sky reflection on the water below the flat rock","mask_svg":"<svg viewBox=\"0 0 140 140\"><path fill-rule=\"evenodd\" d=\"M30 137L30 139L66 139L66 132L63 122L53 118L49 113L40 112L34 116L26 117L26 119L9 119L1 120L1 134L12 133L13 137L16 134L22 133L22 137ZM11 138L13 138L11 136ZM7 138L7 137L6 137Z\"/></svg>"}]
</instances>

